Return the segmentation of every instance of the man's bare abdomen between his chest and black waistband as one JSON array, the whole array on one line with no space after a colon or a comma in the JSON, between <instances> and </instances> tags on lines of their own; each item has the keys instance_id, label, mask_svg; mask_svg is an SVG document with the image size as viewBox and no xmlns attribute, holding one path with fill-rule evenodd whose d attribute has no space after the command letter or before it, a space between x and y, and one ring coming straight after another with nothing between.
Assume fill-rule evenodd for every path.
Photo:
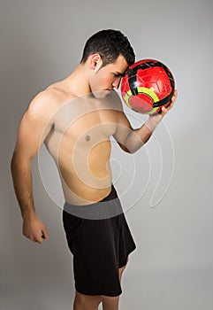
<instances>
[{"instance_id":1,"label":"man's bare abdomen between his chest and black waistband","mask_svg":"<svg viewBox=\"0 0 213 310\"><path fill-rule=\"evenodd\" d=\"M88 205L110 193L110 140L95 143L89 151L79 148L61 151L58 168L65 200L74 205Z\"/></svg>"}]
</instances>

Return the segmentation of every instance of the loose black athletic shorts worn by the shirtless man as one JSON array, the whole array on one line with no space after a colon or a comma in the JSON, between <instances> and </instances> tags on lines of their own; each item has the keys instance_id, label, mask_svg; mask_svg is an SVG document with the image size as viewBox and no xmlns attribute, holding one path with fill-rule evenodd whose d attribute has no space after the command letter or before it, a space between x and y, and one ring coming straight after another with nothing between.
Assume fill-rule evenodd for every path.
<instances>
[{"instance_id":1,"label":"loose black athletic shorts worn by the shirtless man","mask_svg":"<svg viewBox=\"0 0 213 310\"><path fill-rule=\"evenodd\" d=\"M110 205L115 216L109 213ZM136 245L113 186L110 195L101 202L80 207L85 210L89 206L92 213L90 210L88 216L83 213L82 217L73 215L73 208L79 205L65 203L63 210L65 236L73 254L75 289L85 295L118 296L122 293L118 268L126 265ZM94 218L95 206L97 218Z\"/></svg>"}]
</instances>

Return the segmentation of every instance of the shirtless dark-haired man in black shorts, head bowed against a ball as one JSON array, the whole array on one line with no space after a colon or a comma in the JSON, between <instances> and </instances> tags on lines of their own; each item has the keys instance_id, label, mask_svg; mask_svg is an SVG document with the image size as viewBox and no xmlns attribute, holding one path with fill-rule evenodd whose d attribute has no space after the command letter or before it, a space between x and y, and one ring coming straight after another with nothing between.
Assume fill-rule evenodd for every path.
<instances>
[{"instance_id":1,"label":"shirtless dark-haired man in black shorts, head bowed against a ball","mask_svg":"<svg viewBox=\"0 0 213 310\"><path fill-rule=\"evenodd\" d=\"M167 108L149 116L141 128L133 129L113 90L118 89L133 62L133 48L119 31L103 30L91 36L72 74L44 89L28 106L11 159L23 235L40 244L49 239L49 234L34 208L31 161L42 143L55 159L67 206L63 211L65 234L74 257L74 310L95 310L101 302L104 310L118 309L121 275L135 248L111 185L110 136L123 151L139 150L177 97L175 91ZM118 213L95 218L94 210L103 211L99 202L105 202L109 211L111 201L116 201ZM67 211L72 206L77 214ZM95 207L93 218L84 216L84 211L82 216L78 214L82 207L88 210L90 206ZM115 230L109 230L112 227ZM121 230L123 239L118 240ZM103 243L109 243L105 246L107 252L100 248Z\"/></svg>"}]
</instances>

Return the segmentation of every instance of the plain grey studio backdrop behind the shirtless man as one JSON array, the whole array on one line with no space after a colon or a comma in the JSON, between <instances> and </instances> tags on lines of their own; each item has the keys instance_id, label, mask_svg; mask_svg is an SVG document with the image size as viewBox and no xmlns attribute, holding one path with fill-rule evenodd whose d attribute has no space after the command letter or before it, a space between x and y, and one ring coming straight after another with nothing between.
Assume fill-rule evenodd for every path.
<instances>
[{"instance_id":1,"label":"plain grey studio backdrop behind the shirtless man","mask_svg":"<svg viewBox=\"0 0 213 310\"><path fill-rule=\"evenodd\" d=\"M39 165L34 159L34 201L50 236L34 244L21 235L9 166L29 102L72 72L87 37L102 28L122 30L137 60L163 61L179 90L146 147L131 157L113 143L113 177L137 244L120 308L212 309L212 13L210 0L1 0L1 309L71 309L72 257L55 167L44 149ZM126 113L133 126L146 120Z\"/></svg>"}]
</instances>

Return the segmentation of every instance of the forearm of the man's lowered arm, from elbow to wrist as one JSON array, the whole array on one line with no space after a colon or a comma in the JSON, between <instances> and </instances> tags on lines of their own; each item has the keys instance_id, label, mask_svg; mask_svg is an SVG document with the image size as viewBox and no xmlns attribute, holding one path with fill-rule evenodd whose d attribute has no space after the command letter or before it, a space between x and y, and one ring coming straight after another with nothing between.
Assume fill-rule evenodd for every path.
<instances>
[{"instance_id":1,"label":"forearm of the man's lowered arm, from elbow to wrist","mask_svg":"<svg viewBox=\"0 0 213 310\"><path fill-rule=\"evenodd\" d=\"M19 159L13 155L11 159L11 175L22 218L25 220L34 217L35 210L30 163L20 163Z\"/></svg>"}]
</instances>

